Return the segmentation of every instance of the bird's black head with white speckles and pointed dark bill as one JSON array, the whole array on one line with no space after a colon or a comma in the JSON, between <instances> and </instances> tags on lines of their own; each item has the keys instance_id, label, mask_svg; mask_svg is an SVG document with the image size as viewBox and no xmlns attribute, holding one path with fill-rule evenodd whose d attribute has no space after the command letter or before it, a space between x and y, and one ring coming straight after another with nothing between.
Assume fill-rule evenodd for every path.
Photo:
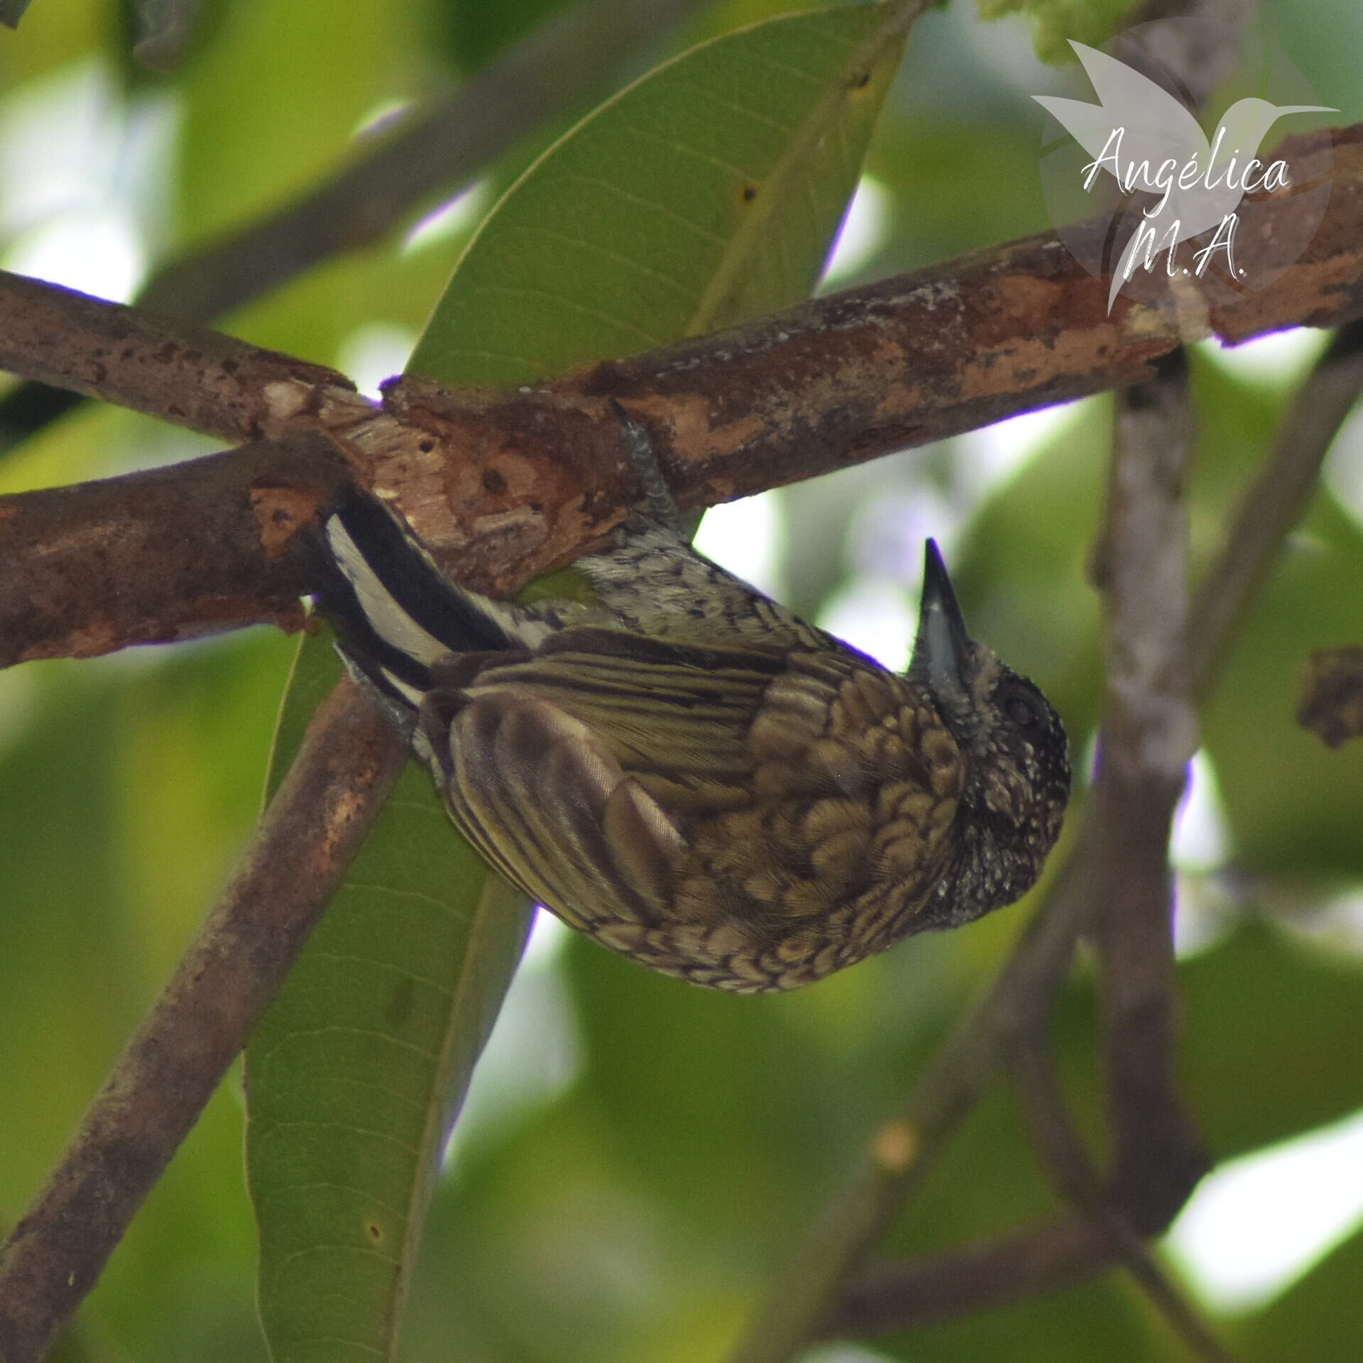
<instances>
[{"instance_id":1,"label":"bird's black head with white speckles and pointed dark bill","mask_svg":"<svg viewBox=\"0 0 1363 1363\"><path fill-rule=\"evenodd\" d=\"M909 680L927 691L966 758L955 866L925 906L954 927L1025 894L1055 845L1070 795L1065 726L1035 683L966 634L928 540Z\"/></svg>"}]
</instances>

